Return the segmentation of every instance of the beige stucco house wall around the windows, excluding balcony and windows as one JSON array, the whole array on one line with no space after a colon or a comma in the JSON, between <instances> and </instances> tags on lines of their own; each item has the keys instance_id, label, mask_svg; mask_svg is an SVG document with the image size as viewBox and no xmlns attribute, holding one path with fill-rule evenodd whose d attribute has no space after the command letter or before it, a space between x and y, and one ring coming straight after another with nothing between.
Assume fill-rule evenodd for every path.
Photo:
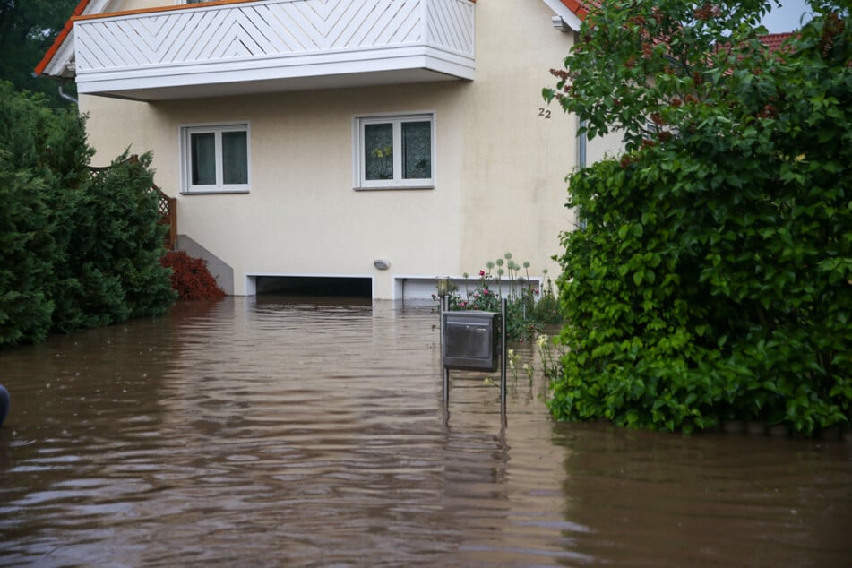
<instances>
[{"instance_id":1,"label":"beige stucco house wall around the windows, excluding balcony and windows","mask_svg":"<svg viewBox=\"0 0 852 568\"><path fill-rule=\"evenodd\" d=\"M151 104L83 96L94 161L152 150L157 184L178 197L178 232L233 268L237 295L246 274L336 275L371 277L374 297L391 298L394 278L477 273L505 252L532 276L555 275L576 122L555 105L538 116L572 41L552 15L543 2L480 0L473 82ZM435 188L354 191L352 117L421 110L436 116ZM251 192L179 194L179 127L232 121L250 124Z\"/></svg>"}]
</instances>

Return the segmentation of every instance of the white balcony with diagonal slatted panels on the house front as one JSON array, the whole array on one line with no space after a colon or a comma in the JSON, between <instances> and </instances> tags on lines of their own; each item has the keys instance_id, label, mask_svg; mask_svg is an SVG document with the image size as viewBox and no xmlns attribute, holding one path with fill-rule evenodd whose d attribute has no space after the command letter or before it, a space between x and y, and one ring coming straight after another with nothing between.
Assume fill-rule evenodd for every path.
<instances>
[{"instance_id":1,"label":"white balcony with diagonal slatted panels on the house front","mask_svg":"<svg viewBox=\"0 0 852 568\"><path fill-rule=\"evenodd\" d=\"M473 79L469 0L262 0L74 21L77 90L190 99Z\"/></svg>"}]
</instances>

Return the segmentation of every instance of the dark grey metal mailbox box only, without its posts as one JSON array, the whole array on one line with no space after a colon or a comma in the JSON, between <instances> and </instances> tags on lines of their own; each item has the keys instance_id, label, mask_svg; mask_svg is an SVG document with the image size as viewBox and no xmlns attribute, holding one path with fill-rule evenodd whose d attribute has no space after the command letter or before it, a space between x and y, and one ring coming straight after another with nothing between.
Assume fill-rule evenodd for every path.
<instances>
[{"instance_id":1,"label":"dark grey metal mailbox box only, without its posts","mask_svg":"<svg viewBox=\"0 0 852 568\"><path fill-rule=\"evenodd\" d=\"M443 313L443 366L447 369L495 371L499 353L500 314Z\"/></svg>"}]
</instances>

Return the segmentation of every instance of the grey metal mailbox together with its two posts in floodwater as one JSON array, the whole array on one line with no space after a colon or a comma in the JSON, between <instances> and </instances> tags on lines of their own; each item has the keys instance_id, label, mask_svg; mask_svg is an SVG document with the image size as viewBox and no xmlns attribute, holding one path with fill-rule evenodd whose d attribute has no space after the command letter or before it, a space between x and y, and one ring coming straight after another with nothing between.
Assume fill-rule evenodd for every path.
<instances>
[{"instance_id":1,"label":"grey metal mailbox together with its two posts in floodwater","mask_svg":"<svg viewBox=\"0 0 852 568\"><path fill-rule=\"evenodd\" d=\"M443 298L442 298L443 299ZM506 299L501 313L475 310L450 312L442 303L441 360L443 403L450 404L450 370L497 370L500 361L500 412L506 417Z\"/></svg>"}]
</instances>

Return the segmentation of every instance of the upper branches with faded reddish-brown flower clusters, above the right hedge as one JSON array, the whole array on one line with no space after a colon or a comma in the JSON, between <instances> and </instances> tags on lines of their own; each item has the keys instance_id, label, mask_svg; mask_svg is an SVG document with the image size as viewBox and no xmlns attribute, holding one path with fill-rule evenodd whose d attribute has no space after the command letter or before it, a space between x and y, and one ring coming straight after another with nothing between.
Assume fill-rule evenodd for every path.
<instances>
[{"instance_id":1,"label":"upper branches with faded reddish-brown flower clusters, above the right hedge","mask_svg":"<svg viewBox=\"0 0 852 568\"><path fill-rule=\"evenodd\" d=\"M590 138L615 129L627 151L666 140L741 104L748 76L769 65L758 27L767 8L767 0L602 3L546 97L577 113Z\"/></svg>"}]
</instances>

